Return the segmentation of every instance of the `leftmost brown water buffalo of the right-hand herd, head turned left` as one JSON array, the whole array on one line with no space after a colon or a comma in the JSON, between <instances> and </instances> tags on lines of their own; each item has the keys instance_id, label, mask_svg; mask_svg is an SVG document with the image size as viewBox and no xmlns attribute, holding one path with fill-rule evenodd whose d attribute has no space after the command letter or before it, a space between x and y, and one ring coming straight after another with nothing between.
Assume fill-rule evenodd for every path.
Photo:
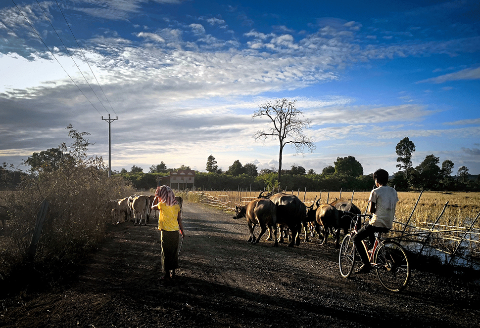
<instances>
[{"instance_id":1,"label":"leftmost brown water buffalo of the right-hand herd, head turned left","mask_svg":"<svg viewBox=\"0 0 480 328\"><path fill-rule=\"evenodd\" d=\"M235 206L235 215L233 219L240 219L246 217L248 229L250 230L250 238L248 242L257 244L262 238L267 227L270 231L273 230L274 234L274 247L278 247L277 240L277 208L276 205L269 199L255 199L248 203L246 206ZM260 225L261 231L258 238L255 237L253 231L256 225Z\"/></svg>"}]
</instances>

